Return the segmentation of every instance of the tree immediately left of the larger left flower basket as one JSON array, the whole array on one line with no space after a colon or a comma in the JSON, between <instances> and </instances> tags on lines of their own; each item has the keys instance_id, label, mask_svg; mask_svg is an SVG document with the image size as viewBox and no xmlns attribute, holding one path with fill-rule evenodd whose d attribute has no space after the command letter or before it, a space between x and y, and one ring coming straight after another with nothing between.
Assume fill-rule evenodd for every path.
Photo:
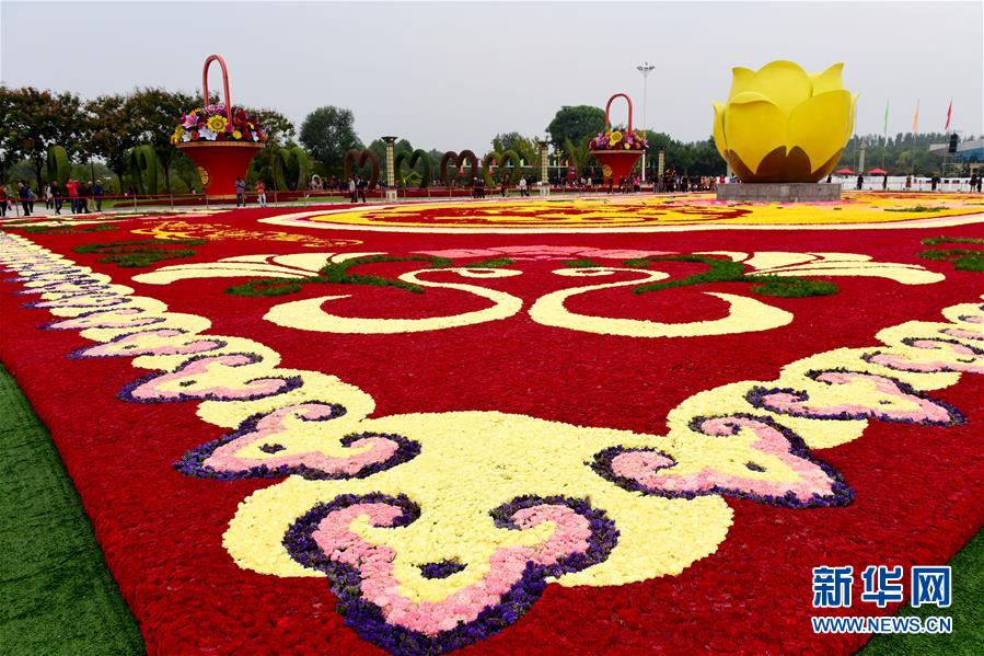
<instances>
[{"instance_id":1,"label":"tree immediately left of the larger left flower basket","mask_svg":"<svg viewBox=\"0 0 984 656\"><path fill-rule=\"evenodd\" d=\"M171 166L178 151L171 135L184 112L198 106L198 99L181 91L138 89L127 99L137 141L149 143L164 170L164 185L171 191Z\"/></svg>"}]
</instances>

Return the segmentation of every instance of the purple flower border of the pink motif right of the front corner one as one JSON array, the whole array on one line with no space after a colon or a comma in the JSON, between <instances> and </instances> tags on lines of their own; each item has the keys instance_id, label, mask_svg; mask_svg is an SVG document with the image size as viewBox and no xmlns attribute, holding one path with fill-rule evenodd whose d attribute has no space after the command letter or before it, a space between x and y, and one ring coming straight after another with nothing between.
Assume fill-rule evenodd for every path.
<instances>
[{"instance_id":1,"label":"purple flower border of the pink motif right of the front corner one","mask_svg":"<svg viewBox=\"0 0 984 656\"><path fill-rule=\"evenodd\" d=\"M691 421L690 427L691 429L707 435L702 430L702 425L704 422L710 419L728 419L728 418L740 418L740 419L750 419L754 422L760 422L762 424L768 425L771 428L778 430L783 434L783 436L789 441L789 452L796 456L797 458L802 458L803 460L808 460L823 470L823 472L831 477L833 481L833 485L831 487L831 494L827 496L820 496L818 494L813 494L808 500L802 500L797 497L791 492L787 493L784 496L773 496L773 495L760 495L753 494L749 492L736 491L729 487L721 487L719 485L715 485L708 490L699 491L699 492L673 492L668 490L650 490L649 487L644 486L638 481L634 479L628 479L626 476L620 476L615 473L612 468L612 461L620 453L630 453L630 452L652 452L659 453L664 458L669 458L673 461L674 464L670 467L675 467L676 460L659 449L656 448L628 448L628 447L609 447L595 453L594 461L590 463L591 469L600 475L602 479L606 481L611 481L618 487L623 490L627 490L629 492L641 492L646 495L651 496L661 496L664 498L685 498L685 499L694 499L698 496L708 496L708 495L722 495L730 496L732 498L745 499L750 502L755 502L757 504L764 504L768 506L777 506L782 508L829 508L829 507L841 507L841 506L849 506L854 503L854 490L850 485L847 484L847 481L844 480L844 476L837 471L834 467L827 464L823 460L819 458L814 458L810 448L807 446L807 442L803 439L790 430L789 428L783 426L782 424L776 423L771 417L763 417L752 414L744 413L731 413L726 415L715 415L715 416L702 416L695 417ZM731 435L734 435L738 429L733 428ZM714 436L714 437L722 437L727 436ZM755 464L755 463L751 463ZM748 467L749 463L745 464ZM667 468L669 469L669 468ZM752 469L752 468L749 468ZM754 470L753 470L754 471Z\"/></svg>"}]
</instances>

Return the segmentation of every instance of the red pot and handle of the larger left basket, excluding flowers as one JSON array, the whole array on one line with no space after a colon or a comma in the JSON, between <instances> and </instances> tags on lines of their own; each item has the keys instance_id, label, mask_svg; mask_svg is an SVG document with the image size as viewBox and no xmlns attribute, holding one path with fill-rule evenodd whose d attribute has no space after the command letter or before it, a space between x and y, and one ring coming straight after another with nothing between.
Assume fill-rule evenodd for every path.
<instances>
[{"instance_id":1,"label":"red pot and handle of the larger left basket, excluding flowers","mask_svg":"<svg viewBox=\"0 0 984 656\"><path fill-rule=\"evenodd\" d=\"M201 70L201 102L208 106L208 67L218 61L222 69L222 90L225 92L225 117L232 123L232 102L229 96L229 71L221 55L211 55ZM185 141L175 145L198 166L198 176L209 196L235 195L235 179L246 177L250 162L263 148L256 141Z\"/></svg>"}]
</instances>

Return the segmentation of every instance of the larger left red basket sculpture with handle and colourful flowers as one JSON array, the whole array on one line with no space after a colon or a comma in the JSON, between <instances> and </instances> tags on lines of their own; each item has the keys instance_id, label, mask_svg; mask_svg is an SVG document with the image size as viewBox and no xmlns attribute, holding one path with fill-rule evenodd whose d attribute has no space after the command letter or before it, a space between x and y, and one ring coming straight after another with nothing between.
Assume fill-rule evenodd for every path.
<instances>
[{"instance_id":1,"label":"larger left red basket sculpture with handle and colourful flowers","mask_svg":"<svg viewBox=\"0 0 984 656\"><path fill-rule=\"evenodd\" d=\"M225 103L210 105L208 67L218 61L222 69ZM171 140L198 166L198 175L210 196L235 194L235 179L245 177L253 157L263 148L264 134L256 118L234 108L229 97L229 72L220 55L205 60L201 71L202 105L184 114Z\"/></svg>"}]
</instances>

